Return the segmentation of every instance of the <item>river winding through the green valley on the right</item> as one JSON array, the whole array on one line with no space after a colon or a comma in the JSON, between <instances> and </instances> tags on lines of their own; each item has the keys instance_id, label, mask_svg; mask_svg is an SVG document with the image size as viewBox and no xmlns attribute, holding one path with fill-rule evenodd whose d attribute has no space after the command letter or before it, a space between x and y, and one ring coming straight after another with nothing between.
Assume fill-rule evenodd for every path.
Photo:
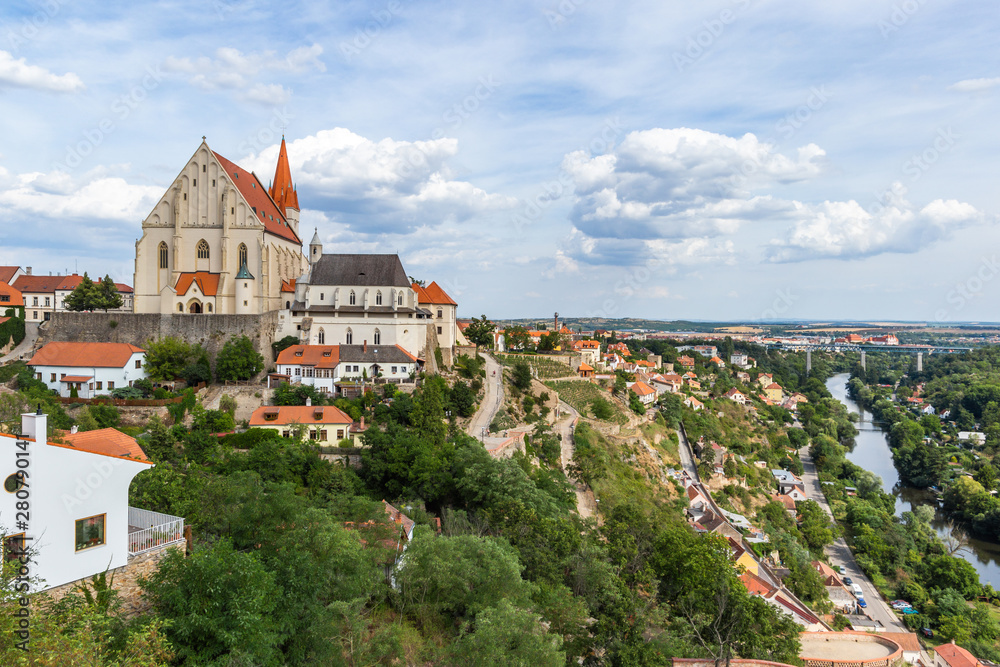
<instances>
[{"instance_id":1,"label":"river winding through the green valley on the right","mask_svg":"<svg viewBox=\"0 0 1000 667\"><path fill-rule=\"evenodd\" d=\"M858 435L854 439L854 450L848 452L847 458L882 478L882 488L896 497L896 516L910 511L915 505L933 505L937 508L936 498L930 492L899 487L899 473L896 472L896 466L892 462L889 438L882 429L872 424L872 416L861 410L860 406L847 395L848 379L850 379L849 374L841 373L826 381L826 388L833 397L846 405L850 412L860 416L860 420L855 423ZM947 517L940 509L931 525L942 538L948 536ZM976 568L982 583L993 584L994 588L1000 585L1000 544L971 538L968 542L969 546L956 555Z\"/></svg>"}]
</instances>

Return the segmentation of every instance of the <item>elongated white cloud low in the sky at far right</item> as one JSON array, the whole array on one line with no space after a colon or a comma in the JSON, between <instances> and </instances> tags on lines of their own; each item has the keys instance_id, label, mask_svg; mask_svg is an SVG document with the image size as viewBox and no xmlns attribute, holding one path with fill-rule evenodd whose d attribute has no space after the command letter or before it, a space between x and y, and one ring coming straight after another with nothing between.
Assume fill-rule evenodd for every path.
<instances>
[{"instance_id":1,"label":"elongated white cloud low in the sky at far right","mask_svg":"<svg viewBox=\"0 0 1000 667\"><path fill-rule=\"evenodd\" d=\"M913 253L961 228L986 221L970 204L937 199L918 209L898 193L887 206L865 210L856 201L806 205L795 202L798 221L784 240L771 242L772 262L857 259L886 252Z\"/></svg>"}]
</instances>

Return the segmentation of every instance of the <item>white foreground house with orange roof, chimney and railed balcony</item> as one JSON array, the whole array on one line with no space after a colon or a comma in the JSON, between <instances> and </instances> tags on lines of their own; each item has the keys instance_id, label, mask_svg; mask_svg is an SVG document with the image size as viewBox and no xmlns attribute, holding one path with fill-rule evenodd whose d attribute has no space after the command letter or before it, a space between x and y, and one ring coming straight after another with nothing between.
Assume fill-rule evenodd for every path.
<instances>
[{"instance_id":1,"label":"white foreground house with orange roof, chimney and railed balcony","mask_svg":"<svg viewBox=\"0 0 1000 667\"><path fill-rule=\"evenodd\" d=\"M101 429L46 441L44 414L22 415L21 431L0 434L0 527L4 558L30 554L32 592L183 540L183 519L128 506L132 479L153 466L133 438Z\"/></svg>"}]
</instances>

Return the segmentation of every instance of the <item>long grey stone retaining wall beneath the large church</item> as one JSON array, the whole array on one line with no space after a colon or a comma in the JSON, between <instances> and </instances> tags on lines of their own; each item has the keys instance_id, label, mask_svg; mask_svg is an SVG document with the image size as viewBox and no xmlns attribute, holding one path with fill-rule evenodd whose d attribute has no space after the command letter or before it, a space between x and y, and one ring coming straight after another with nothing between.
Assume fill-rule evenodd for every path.
<instances>
[{"instance_id":1,"label":"long grey stone retaining wall beneath the large church","mask_svg":"<svg viewBox=\"0 0 1000 667\"><path fill-rule=\"evenodd\" d=\"M278 311L262 315L160 315L157 313L55 312L39 328L39 345L51 341L130 343L143 347L166 336L197 343L215 358L226 341L248 336L268 364L278 330Z\"/></svg>"}]
</instances>

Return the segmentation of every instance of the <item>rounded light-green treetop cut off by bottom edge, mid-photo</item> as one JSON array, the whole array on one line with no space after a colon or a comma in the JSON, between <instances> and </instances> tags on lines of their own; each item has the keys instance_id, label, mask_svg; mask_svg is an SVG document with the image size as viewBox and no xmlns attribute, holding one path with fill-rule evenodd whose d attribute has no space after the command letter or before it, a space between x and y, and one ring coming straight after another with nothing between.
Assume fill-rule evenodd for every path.
<instances>
[{"instance_id":1,"label":"rounded light-green treetop cut off by bottom edge, mid-photo","mask_svg":"<svg viewBox=\"0 0 1000 667\"><path fill-rule=\"evenodd\" d=\"M476 617L475 631L454 643L452 661L465 667L561 667L566 664L561 643L536 614L501 600Z\"/></svg>"}]
</instances>

